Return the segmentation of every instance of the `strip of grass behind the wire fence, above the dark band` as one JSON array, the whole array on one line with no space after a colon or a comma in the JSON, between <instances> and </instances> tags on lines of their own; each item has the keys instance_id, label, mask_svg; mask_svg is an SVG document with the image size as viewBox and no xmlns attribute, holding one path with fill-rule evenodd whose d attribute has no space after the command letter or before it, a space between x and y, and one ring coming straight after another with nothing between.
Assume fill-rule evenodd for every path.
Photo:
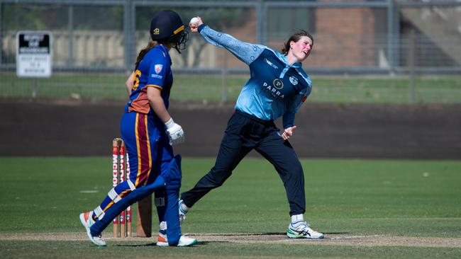
<instances>
[{"instance_id":1,"label":"strip of grass behind the wire fence, above the dark band","mask_svg":"<svg viewBox=\"0 0 461 259\"><path fill-rule=\"evenodd\" d=\"M37 79L38 98L126 100L125 74L54 74ZM34 79L0 74L0 98L30 98ZM227 101L233 103L248 76L228 76ZM409 103L410 81L402 76L312 76L309 101L328 103ZM221 75L175 75L172 100L216 103L223 93ZM460 103L461 76L418 76L416 103Z\"/></svg>"}]
</instances>

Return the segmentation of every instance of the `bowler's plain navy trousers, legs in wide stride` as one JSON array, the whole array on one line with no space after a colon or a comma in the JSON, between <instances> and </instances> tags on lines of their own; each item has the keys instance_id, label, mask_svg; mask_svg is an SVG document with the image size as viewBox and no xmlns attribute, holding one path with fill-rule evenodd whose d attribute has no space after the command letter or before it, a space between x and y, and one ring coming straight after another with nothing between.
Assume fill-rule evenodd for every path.
<instances>
[{"instance_id":1,"label":"bowler's plain navy trousers, legs in wide stride","mask_svg":"<svg viewBox=\"0 0 461 259\"><path fill-rule=\"evenodd\" d=\"M290 207L289 214L304 214L304 172L293 147L282 139L272 120L260 120L239 110L230 117L213 168L194 188L182 192L184 204L192 207L210 190L223 185L252 149L270 161L282 178Z\"/></svg>"}]
</instances>

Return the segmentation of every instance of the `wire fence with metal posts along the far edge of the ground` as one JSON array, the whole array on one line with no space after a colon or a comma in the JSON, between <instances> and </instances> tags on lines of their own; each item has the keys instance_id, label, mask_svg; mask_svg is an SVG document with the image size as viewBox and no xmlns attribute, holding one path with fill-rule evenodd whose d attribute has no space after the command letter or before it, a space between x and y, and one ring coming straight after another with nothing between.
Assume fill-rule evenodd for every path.
<instances>
[{"instance_id":1,"label":"wire fence with metal posts along the far edge of the ground","mask_svg":"<svg viewBox=\"0 0 461 259\"><path fill-rule=\"evenodd\" d=\"M166 8L184 22L201 16L216 30L275 50L297 29L309 30L314 47L304 67L314 101L461 101L461 2L443 0L0 0L0 96L126 99L124 82L149 41L150 18ZM20 30L52 34L50 78L16 76ZM182 54L170 52L172 98L235 100L248 67L191 36ZM363 74L374 78L356 77Z\"/></svg>"}]
</instances>

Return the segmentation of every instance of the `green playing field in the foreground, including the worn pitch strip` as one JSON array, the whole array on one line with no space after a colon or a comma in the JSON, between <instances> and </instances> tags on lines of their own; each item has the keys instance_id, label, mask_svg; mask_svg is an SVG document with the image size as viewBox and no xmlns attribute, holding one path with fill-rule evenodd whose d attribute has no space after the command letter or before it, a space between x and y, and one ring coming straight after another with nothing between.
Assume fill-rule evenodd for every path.
<instances>
[{"instance_id":1,"label":"green playing field in the foreground, including the worn pitch strip","mask_svg":"<svg viewBox=\"0 0 461 259\"><path fill-rule=\"evenodd\" d=\"M223 187L187 215L182 231L200 237L196 246L157 248L154 226L153 238L109 238L108 247L96 248L84 239L78 214L96 207L111 188L109 156L0 157L0 258L461 257L461 161L302 163L305 217L326 234L324 241L282 236L289 215L281 180L267 161L244 159ZM183 159L182 190L212 164L213 159ZM244 238L229 241L228 235ZM104 236L112 236L111 227ZM382 240L369 242L376 238Z\"/></svg>"}]
</instances>

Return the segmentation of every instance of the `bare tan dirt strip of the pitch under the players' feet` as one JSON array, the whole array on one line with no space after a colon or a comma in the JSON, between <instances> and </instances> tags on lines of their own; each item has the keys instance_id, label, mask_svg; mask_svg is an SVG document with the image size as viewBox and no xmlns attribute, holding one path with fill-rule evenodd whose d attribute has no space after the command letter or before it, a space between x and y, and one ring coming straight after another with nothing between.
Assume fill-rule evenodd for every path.
<instances>
[{"instance_id":1,"label":"bare tan dirt strip of the pitch under the players' feet","mask_svg":"<svg viewBox=\"0 0 461 259\"><path fill-rule=\"evenodd\" d=\"M231 243L284 243L289 245L330 245L330 246L412 246L412 247L446 247L461 248L461 238L440 237L413 237L413 236L352 236L344 234L327 234L323 239L289 239L284 234L188 234L197 238L199 243L231 242ZM104 236L109 241L157 241L157 236L152 238L111 238ZM84 233L20 233L0 234L0 240L16 241L86 241Z\"/></svg>"}]
</instances>

